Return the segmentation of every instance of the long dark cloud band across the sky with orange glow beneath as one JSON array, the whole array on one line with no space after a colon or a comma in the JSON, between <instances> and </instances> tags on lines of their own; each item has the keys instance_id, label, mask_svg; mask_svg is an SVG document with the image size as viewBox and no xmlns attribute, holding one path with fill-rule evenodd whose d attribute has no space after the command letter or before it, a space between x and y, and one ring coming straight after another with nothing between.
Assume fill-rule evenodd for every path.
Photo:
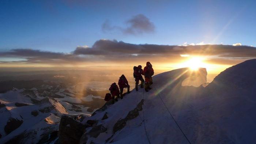
<instances>
[{"instance_id":1,"label":"long dark cloud band across the sky with orange glow beneath","mask_svg":"<svg viewBox=\"0 0 256 144\"><path fill-rule=\"evenodd\" d=\"M12 49L0 52L0 57L25 58L25 63L74 64L97 62L174 62L184 56L204 56L208 62L236 64L238 61L256 58L256 48L242 45L152 45L131 44L123 41L101 39L92 47L78 46L71 53L45 52L33 49ZM183 57L182 57L183 56Z\"/></svg>"}]
</instances>

